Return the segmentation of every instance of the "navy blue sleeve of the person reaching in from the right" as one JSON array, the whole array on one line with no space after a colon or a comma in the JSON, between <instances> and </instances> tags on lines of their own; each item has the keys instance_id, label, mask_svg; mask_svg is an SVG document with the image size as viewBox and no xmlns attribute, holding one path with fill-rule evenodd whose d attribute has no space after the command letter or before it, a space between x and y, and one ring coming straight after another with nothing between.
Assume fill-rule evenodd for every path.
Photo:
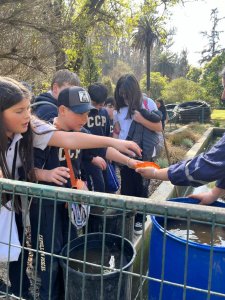
<instances>
[{"instance_id":1,"label":"navy blue sleeve of the person reaching in from the right","mask_svg":"<svg viewBox=\"0 0 225 300\"><path fill-rule=\"evenodd\" d=\"M194 187L217 180L216 186L225 189L225 134L209 151L170 166L168 177L174 185Z\"/></svg>"}]
</instances>

